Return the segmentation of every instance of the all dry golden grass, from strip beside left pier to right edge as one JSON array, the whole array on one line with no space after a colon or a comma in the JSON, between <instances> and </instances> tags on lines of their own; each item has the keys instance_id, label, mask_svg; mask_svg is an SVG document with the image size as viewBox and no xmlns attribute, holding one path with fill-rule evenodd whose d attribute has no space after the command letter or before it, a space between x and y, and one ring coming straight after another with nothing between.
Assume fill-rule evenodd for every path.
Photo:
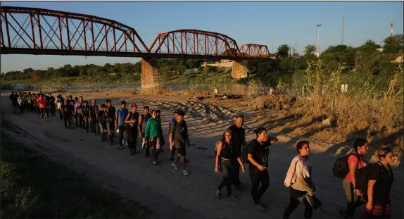
<instances>
[{"instance_id":1,"label":"all dry golden grass, from strip beside left pier to right edge","mask_svg":"<svg viewBox=\"0 0 404 219\"><path fill-rule=\"evenodd\" d=\"M372 145L393 147L398 156L403 156L403 68L399 66L391 77L389 87L377 90L376 87L364 84L360 89L349 89L341 92L340 66L331 74L324 72L322 61L309 63L305 71L305 83L287 85L278 82L277 91L296 96L296 103L281 104L279 99L270 98L272 108L277 111L274 118L260 118L273 127L274 132L287 132L292 136L305 136L320 139L327 143L351 144L351 140L367 138ZM217 85L191 85L189 89L174 91L154 87L143 90L142 94L185 94L191 96L211 95ZM260 94L263 91L260 82L248 82L247 85L229 84L222 86L222 93ZM303 87L303 88L302 88ZM360 90L360 92L353 92ZM251 102L253 108L263 109L268 105L269 96L259 96ZM276 102L276 103L274 103ZM286 101L287 102L287 101ZM293 118L293 119L290 119ZM331 125L322 123L329 120ZM349 142L349 143L348 143Z\"/></svg>"}]
</instances>

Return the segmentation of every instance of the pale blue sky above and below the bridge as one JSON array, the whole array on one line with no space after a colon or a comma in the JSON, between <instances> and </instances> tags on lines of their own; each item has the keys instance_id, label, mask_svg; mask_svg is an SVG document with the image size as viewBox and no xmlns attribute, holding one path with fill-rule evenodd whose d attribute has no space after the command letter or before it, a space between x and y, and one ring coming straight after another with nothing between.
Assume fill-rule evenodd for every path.
<instances>
[{"instance_id":1,"label":"pale blue sky above and below the bridge","mask_svg":"<svg viewBox=\"0 0 404 219\"><path fill-rule=\"evenodd\" d=\"M97 15L134 27L149 46L156 35L177 29L220 32L243 43L266 44L272 52L280 44L296 44L299 52L307 44L317 45L317 23L321 23L320 49L341 44L359 46L367 39L377 43L403 34L403 2L400 1L1 1L2 6L27 6ZM24 68L58 68L65 64L135 63L139 58L93 56L1 55L1 72Z\"/></svg>"}]
</instances>

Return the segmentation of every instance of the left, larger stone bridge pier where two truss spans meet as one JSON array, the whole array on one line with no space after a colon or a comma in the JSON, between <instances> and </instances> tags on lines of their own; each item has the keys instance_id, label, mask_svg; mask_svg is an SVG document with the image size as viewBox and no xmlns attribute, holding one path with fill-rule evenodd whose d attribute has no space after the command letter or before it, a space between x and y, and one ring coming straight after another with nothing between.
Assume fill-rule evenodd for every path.
<instances>
[{"instance_id":1,"label":"left, larger stone bridge pier where two truss spans meet","mask_svg":"<svg viewBox=\"0 0 404 219\"><path fill-rule=\"evenodd\" d=\"M157 61L153 58L140 59L141 89L151 89L158 86Z\"/></svg>"}]
</instances>

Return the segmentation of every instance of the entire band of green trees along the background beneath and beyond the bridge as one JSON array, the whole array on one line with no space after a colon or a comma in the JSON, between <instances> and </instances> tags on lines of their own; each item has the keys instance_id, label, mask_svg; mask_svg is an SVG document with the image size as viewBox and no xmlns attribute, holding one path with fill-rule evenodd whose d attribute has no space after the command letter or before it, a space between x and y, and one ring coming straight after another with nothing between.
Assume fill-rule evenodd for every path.
<instances>
[{"instance_id":1,"label":"entire band of green trees along the background beneath and beyond the bridge","mask_svg":"<svg viewBox=\"0 0 404 219\"><path fill-rule=\"evenodd\" d=\"M377 49L382 49L378 51ZM248 61L248 69L251 73L266 74L274 71L283 73L293 73L296 70L303 70L308 67L308 61L322 59L325 70L332 71L338 66L345 65L347 69L355 72L366 73L367 75L386 75L393 73L396 63L391 63L397 54L403 54L403 35L394 35L384 39L384 46L376 44L372 40L367 40L365 44L358 47L337 45L329 46L323 51L320 57L315 55L317 50L315 45L305 46L303 56L296 58L297 54L291 52L290 46L283 44L277 48L277 58L271 61L256 60ZM187 69L198 68L206 72L201 67L203 62L214 63L216 60L203 59L182 59L182 58L158 58L159 75L172 76L184 73ZM214 72L214 68L209 68L209 72ZM106 63L105 65L64 65L61 68L47 68L46 70L34 70L32 68L23 71L10 71L2 73L1 79L8 80L31 80L32 83L44 79L58 77L103 77L130 78L140 73L140 62L137 63Z\"/></svg>"}]
</instances>

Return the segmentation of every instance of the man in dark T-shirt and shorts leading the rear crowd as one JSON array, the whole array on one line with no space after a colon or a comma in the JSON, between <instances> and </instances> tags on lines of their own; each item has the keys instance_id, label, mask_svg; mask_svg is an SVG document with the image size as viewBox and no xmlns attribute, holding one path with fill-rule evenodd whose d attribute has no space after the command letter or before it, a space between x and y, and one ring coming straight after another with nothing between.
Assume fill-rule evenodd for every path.
<instances>
[{"instance_id":1,"label":"man in dark T-shirt and shorts leading the rear crowd","mask_svg":"<svg viewBox=\"0 0 404 219\"><path fill-rule=\"evenodd\" d=\"M189 137L188 137L188 127L185 123L182 123L184 119L184 112L178 111L177 120L170 127L170 151L172 151L172 144L174 144L175 149L177 150L178 156L175 158L175 161L172 162L172 167L177 170L177 161L180 159L182 165L182 174L184 176L188 175L187 170L185 169L185 146L189 147Z\"/></svg>"}]
</instances>

